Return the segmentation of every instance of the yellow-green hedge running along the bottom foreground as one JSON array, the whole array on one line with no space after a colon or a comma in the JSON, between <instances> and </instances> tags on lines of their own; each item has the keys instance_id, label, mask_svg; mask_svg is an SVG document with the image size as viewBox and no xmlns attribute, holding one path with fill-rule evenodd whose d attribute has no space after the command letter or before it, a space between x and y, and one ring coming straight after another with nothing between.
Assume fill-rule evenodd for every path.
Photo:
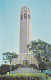
<instances>
[{"instance_id":1,"label":"yellow-green hedge running along the bottom foreground","mask_svg":"<svg viewBox=\"0 0 51 80\"><path fill-rule=\"evenodd\" d=\"M9 74L9 75L0 75L0 80L49 80L48 75L46 74L34 74L34 73L24 73L24 74Z\"/></svg>"}]
</instances>

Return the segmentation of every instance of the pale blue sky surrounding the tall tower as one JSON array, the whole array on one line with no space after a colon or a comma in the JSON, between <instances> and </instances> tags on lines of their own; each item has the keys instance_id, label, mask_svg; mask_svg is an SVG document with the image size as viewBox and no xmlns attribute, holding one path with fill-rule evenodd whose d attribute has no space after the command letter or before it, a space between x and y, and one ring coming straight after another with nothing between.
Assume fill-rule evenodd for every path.
<instances>
[{"instance_id":1,"label":"pale blue sky surrounding the tall tower","mask_svg":"<svg viewBox=\"0 0 51 80\"><path fill-rule=\"evenodd\" d=\"M2 53L19 52L20 10L31 10L33 40L51 44L51 0L0 0L0 64Z\"/></svg>"}]
</instances>

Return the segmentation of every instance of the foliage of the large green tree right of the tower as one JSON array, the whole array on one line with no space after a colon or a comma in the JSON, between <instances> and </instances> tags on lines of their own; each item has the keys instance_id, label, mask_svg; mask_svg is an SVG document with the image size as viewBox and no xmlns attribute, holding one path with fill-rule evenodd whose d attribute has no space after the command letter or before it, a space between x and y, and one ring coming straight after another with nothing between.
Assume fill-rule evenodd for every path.
<instances>
[{"instance_id":1,"label":"foliage of the large green tree right of the tower","mask_svg":"<svg viewBox=\"0 0 51 80\"><path fill-rule=\"evenodd\" d=\"M29 51L37 58L39 63L50 67L51 66L51 45L38 39L31 41L27 45ZM50 67L51 68L51 67Z\"/></svg>"}]
</instances>

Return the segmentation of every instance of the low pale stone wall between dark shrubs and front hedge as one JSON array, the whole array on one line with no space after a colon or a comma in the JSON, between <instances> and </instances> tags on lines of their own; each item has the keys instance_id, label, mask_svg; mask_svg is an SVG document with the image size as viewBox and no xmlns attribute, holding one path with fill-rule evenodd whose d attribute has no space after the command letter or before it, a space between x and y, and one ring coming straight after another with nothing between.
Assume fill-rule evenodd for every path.
<instances>
[{"instance_id":1,"label":"low pale stone wall between dark shrubs and front hedge","mask_svg":"<svg viewBox=\"0 0 51 80\"><path fill-rule=\"evenodd\" d=\"M18 68L15 71L10 71L10 74L16 74L16 73L39 73L40 70L36 70L33 68Z\"/></svg>"}]
</instances>

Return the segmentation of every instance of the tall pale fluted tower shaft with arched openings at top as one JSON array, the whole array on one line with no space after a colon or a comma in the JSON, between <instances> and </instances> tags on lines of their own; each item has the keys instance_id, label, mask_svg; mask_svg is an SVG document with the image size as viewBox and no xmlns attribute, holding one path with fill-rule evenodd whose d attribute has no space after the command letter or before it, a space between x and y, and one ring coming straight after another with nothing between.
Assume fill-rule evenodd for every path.
<instances>
[{"instance_id":1,"label":"tall pale fluted tower shaft with arched openings at top","mask_svg":"<svg viewBox=\"0 0 51 80\"><path fill-rule=\"evenodd\" d=\"M20 15L20 53L28 53L27 45L32 40L30 9L21 8Z\"/></svg>"}]
</instances>

